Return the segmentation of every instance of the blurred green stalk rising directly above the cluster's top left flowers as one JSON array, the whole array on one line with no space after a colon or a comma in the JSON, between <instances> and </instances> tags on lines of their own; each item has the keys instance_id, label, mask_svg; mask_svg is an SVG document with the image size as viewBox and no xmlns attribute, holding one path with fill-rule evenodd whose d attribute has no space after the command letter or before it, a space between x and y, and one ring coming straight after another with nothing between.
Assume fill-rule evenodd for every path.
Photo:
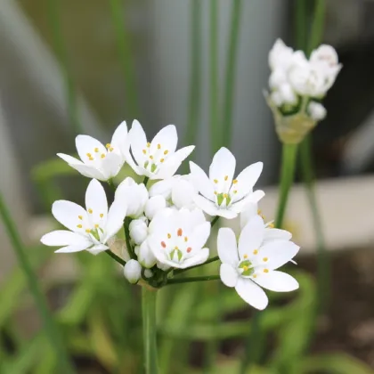
<instances>
[{"instance_id":1,"label":"blurred green stalk rising directly above the cluster's top left flowers","mask_svg":"<svg viewBox=\"0 0 374 374\"><path fill-rule=\"evenodd\" d=\"M131 41L125 27L124 9L121 0L110 0L110 10L117 37L119 59L121 61L124 82L126 86L126 102L132 118L139 116L139 94L136 85L136 71L131 51Z\"/></svg>"}]
</instances>

